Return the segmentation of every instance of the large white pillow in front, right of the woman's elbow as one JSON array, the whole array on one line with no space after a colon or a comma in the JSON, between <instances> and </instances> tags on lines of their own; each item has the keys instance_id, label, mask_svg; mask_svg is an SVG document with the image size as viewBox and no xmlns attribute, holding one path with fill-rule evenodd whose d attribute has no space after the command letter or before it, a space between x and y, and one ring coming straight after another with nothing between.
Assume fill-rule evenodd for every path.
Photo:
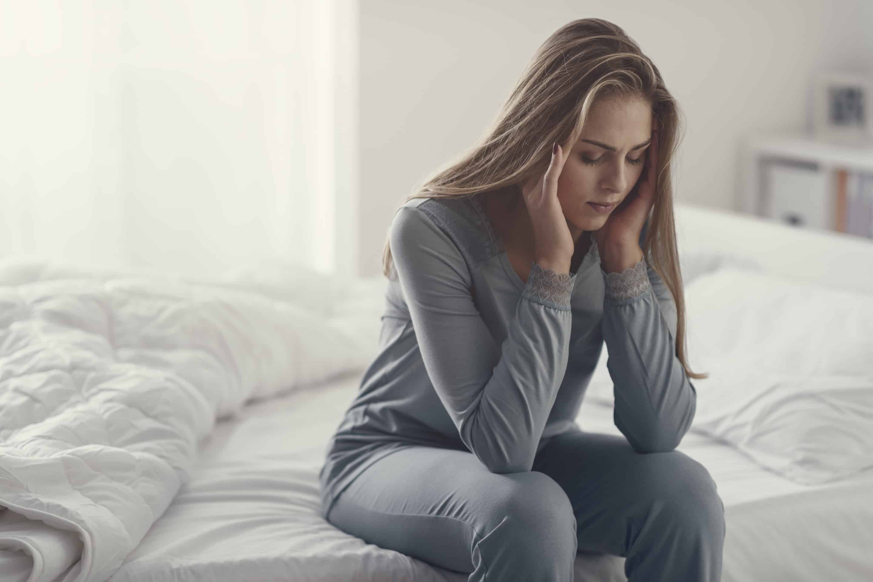
<instances>
[{"instance_id":1,"label":"large white pillow in front, right of the woman's elbow","mask_svg":"<svg viewBox=\"0 0 873 582\"><path fill-rule=\"evenodd\" d=\"M685 288L698 407L711 435L796 483L873 468L873 295L723 268ZM587 398L613 405L603 350Z\"/></svg>"}]
</instances>

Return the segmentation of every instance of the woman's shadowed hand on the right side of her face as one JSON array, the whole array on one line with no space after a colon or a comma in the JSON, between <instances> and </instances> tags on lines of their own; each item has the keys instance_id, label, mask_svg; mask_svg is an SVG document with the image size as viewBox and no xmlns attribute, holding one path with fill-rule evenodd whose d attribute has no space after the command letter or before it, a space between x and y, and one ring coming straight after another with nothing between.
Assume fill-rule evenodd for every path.
<instances>
[{"instance_id":1,"label":"woman's shadowed hand on the right side of her face","mask_svg":"<svg viewBox=\"0 0 873 582\"><path fill-rule=\"evenodd\" d=\"M601 229L592 232L601 256L608 247L639 245L640 234L655 201L657 168L657 132L652 131L652 140L646 152L646 165L634 188L621 204L609 215Z\"/></svg>"}]
</instances>

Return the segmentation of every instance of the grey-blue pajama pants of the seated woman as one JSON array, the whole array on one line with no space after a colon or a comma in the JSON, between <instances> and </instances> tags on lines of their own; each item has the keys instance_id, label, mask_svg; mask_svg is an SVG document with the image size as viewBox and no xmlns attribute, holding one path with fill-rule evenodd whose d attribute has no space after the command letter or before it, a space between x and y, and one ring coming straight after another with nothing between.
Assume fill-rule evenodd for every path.
<instances>
[{"instance_id":1,"label":"grey-blue pajama pants of the seated woman","mask_svg":"<svg viewBox=\"0 0 873 582\"><path fill-rule=\"evenodd\" d=\"M577 550L627 558L629 582L718 582L726 532L702 464L581 430L553 437L521 473L403 448L358 476L327 520L470 582L572 582Z\"/></svg>"}]
</instances>

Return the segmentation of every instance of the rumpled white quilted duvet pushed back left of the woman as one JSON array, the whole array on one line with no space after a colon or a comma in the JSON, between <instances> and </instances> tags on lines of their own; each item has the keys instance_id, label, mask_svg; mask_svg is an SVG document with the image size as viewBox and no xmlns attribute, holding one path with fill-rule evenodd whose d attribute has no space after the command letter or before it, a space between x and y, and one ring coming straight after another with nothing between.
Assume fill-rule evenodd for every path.
<instances>
[{"instance_id":1,"label":"rumpled white quilted duvet pushed back left of the woman","mask_svg":"<svg viewBox=\"0 0 873 582\"><path fill-rule=\"evenodd\" d=\"M377 316L361 326L282 300L332 284L323 305L354 305L340 282L245 275L0 264L0 579L107 579L218 418L372 359Z\"/></svg>"}]
</instances>

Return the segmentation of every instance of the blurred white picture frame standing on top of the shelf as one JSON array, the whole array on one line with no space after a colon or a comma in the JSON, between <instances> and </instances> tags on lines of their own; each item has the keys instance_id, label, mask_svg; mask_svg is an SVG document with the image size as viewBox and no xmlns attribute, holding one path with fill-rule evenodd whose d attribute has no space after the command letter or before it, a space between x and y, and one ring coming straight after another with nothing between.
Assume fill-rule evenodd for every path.
<instances>
[{"instance_id":1,"label":"blurred white picture frame standing on top of the shelf","mask_svg":"<svg viewBox=\"0 0 873 582\"><path fill-rule=\"evenodd\" d=\"M873 144L873 77L819 73L815 78L815 137L847 146Z\"/></svg>"}]
</instances>

